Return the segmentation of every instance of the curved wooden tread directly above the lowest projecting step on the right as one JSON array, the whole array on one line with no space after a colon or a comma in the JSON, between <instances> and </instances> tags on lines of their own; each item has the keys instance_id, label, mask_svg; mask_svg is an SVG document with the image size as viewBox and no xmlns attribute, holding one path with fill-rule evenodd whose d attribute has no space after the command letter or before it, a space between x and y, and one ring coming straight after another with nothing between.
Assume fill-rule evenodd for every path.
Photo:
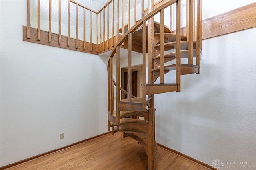
<instances>
[{"instance_id":1,"label":"curved wooden tread directly above the lowest projecting step on the right","mask_svg":"<svg viewBox=\"0 0 256 170\"><path fill-rule=\"evenodd\" d=\"M198 73L199 66L193 64L181 64L181 75ZM152 69L152 72L158 72L160 68ZM164 70L176 70L176 64L164 66Z\"/></svg>"}]
</instances>

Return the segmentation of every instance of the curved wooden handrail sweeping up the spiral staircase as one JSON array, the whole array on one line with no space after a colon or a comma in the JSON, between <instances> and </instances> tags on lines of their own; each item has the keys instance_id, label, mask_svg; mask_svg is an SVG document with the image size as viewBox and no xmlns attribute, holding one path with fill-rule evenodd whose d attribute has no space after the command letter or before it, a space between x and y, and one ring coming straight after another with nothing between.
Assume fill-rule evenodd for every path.
<instances>
[{"instance_id":1,"label":"curved wooden handrail sweeping up the spiral staircase","mask_svg":"<svg viewBox=\"0 0 256 170\"><path fill-rule=\"evenodd\" d=\"M134 32L138 27L140 27L142 25L142 23L150 18L152 18L153 16L155 16L158 12L160 12L161 9L163 8L167 8L168 6L176 3L178 0L169 0L168 2L158 6L156 9L154 9L152 12L148 13L148 15L144 16L144 18L142 18L141 20L139 20L133 27L131 27L131 29L129 29L120 39L119 41L116 43L116 45L114 46L112 52L110 53L110 57L114 57L115 53L116 53L116 47L118 45L121 45L126 39L127 39L127 35L129 33Z\"/></svg>"}]
</instances>

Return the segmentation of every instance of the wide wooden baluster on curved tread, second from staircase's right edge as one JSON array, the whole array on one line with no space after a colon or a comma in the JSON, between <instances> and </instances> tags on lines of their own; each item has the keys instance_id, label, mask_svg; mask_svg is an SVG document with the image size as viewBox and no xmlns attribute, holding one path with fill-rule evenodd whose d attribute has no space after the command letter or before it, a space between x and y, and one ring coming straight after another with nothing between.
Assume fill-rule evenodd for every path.
<instances>
[{"instance_id":1,"label":"wide wooden baluster on curved tread, second from staircase's right edge","mask_svg":"<svg viewBox=\"0 0 256 170\"><path fill-rule=\"evenodd\" d=\"M193 64L193 1L188 2L188 64Z\"/></svg>"}]
</instances>

